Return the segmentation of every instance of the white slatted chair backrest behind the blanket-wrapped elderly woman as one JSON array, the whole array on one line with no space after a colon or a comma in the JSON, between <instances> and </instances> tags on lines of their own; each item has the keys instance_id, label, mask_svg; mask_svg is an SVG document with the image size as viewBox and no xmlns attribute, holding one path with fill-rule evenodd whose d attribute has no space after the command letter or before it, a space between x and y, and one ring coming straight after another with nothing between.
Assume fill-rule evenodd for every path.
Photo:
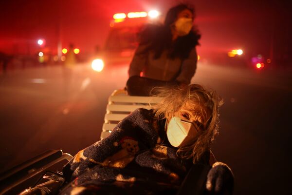
<instances>
[{"instance_id":1,"label":"white slatted chair backrest behind the blanket-wrapped elderly woman","mask_svg":"<svg viewBox=\"0 0 292 195\"><path fill-rule=\"evenodd\" d=\"M157 97L128 96L124 90L115 90L109 97L100 138L108 137L117 123L137 108L150 109L150 104L154 105L160 101L161 98Z\"/></svg>"}]
</instances>

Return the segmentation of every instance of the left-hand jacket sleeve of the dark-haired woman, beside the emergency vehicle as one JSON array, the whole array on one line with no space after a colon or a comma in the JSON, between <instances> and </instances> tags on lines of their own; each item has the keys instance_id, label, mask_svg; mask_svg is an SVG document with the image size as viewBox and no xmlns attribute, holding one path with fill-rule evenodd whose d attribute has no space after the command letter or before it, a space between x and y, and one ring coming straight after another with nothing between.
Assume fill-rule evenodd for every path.
<instances>
[{"instance_id":1,"label":"left-hand jacket sleeve of the dark-haired woman, beside the emergency vehicle","mask_svg":"<svg viewBox=\"0 0 292 195\"><path fill-rule=\"evenodd\" d=\"M144 52L146 47L146 44L140 44L136 49L128 70L129 77L140 76L140 73L143 72L148 58L148 53Z\"/></svg>"}]
</instances>

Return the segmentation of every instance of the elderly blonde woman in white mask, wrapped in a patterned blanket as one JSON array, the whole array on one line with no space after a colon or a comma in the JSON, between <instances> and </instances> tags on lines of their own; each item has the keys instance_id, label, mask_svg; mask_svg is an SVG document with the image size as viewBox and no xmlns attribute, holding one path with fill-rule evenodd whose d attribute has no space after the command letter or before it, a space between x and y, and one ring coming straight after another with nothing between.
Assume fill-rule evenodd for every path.
<instances>
[{"instance_id":1,"label":"elderly blonde woman in white mask, wrapped in a patterned blanket","mask_svg":"<svg viewBox=\"0 0 292 195\"><path fill-rule=\"evenodd\" d=\"M160 103L135 110L64 166L70 184L61 194L176 194L196 186L196 166L207 170L201 193L232 194L233 174L210 150L222 100L197 84L155 94Z\"/></svg>"}]
</instances>

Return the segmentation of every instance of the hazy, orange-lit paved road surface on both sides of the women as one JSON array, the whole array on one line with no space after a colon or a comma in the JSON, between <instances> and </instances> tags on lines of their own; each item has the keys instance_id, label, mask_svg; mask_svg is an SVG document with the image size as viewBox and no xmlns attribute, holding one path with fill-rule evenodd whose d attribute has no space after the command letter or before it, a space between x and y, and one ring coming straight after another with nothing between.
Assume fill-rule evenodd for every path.
<instances>
[{"instance_id":1,"label":"hazy, orange-lit paved road surface on both sides of the women","mask_svg":"<svg viewBox=\"0 0 292 195\"><path fill-rule=\"evenodd\" d=\"M235 195L292 192L291 73L199 64L192 82L225 101L213 151L233 169ZM107 98L126 80L126 66L97 73L86 64L0 75L0 171L45 150L75 154L98 140Z\"/></svg>"}]
</instances>

